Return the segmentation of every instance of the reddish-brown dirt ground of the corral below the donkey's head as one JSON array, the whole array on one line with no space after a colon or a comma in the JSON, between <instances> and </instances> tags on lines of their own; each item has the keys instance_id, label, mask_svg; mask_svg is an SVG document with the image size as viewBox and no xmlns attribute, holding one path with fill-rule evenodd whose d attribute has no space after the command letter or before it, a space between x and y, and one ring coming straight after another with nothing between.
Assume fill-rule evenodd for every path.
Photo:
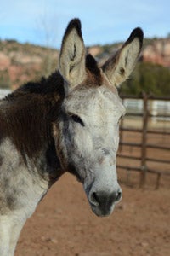
<instances>
[{"instance_id":1,"label":"reddish-brown dirt ground of the corral below the donkey's head","mask_svg":"<svg viewBox=\"0 0 170 256\"><path fill-rule=\"evenodd\" d=\"M65 174L28 219L15 255L169 255L169 187L162 183L158 190L138 189L122 184L122 190L122 201L111 217L99 218L88 206L82 184Z\"/></svg>"}]
</instances>

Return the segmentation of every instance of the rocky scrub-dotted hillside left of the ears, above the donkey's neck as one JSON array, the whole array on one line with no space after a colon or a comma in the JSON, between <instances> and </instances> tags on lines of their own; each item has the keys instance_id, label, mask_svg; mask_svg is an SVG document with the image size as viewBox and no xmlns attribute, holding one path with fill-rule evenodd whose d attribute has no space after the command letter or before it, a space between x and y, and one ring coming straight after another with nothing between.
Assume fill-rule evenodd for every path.
<instances>
[{"instance_id":1,"label":"rocky scrub-dotted hillside left of the ears, above the donkey's neck","mask_svg":"<svg viewBox=\"0 0 170 256\"><path fill-rule=\"evenodd\" d=\"M0 87L17 88L56 68L58 51L14 40L0 41Z\"/></svg>"}]
</instances>

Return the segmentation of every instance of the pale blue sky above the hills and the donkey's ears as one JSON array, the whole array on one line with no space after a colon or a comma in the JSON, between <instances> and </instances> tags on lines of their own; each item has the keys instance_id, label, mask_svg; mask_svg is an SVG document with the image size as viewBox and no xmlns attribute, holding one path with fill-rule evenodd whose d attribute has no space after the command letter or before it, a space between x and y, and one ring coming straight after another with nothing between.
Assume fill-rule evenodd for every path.
<instances>
[{"instance_id":1,"label":"pale blue sky above the hills and the donkey's ears","mask_svg":"<svg viewBox=\"0 0 170 256\"><path fill-rule=\"evenodd\" d=\"M0 38L59 49L69 20L82 20L86 45L125 40L140 26L146 38L170 32L169 0L0 0Z\"/></svg>"}]
</instances>

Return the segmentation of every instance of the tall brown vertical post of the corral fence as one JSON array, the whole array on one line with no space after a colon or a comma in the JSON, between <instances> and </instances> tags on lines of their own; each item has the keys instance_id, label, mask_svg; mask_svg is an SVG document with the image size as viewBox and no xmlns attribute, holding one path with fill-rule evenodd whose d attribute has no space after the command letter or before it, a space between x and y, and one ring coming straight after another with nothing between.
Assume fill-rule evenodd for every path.
<instances>
[{"instance_id":1,"label":"tall brown vertical post of the corral fence","mask_svg":"<svg viewBox=\"0 0 170 256\"><path fill-rule=\"evenodd\" d=\"M147 128L148 128L148 96L143 93L143 131L142 131L142 147L141 147L141 173L140 173L140 188L144 187L146 179L146 143L147 143Z\"/></svg>"}]
</instances>

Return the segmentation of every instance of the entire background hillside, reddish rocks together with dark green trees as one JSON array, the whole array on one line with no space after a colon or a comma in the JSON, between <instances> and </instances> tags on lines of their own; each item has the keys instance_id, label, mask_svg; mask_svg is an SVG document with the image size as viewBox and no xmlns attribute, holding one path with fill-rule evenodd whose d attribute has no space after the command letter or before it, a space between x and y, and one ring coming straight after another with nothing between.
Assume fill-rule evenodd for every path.
<instances>
[{"instance_id":1,"label":"entire background hillside, reddish rocks together with dark green trees","mask_svg":"<svg viewBox=\"0 0 170 256\"><path fill-rule=\"evenodd\" d=\"M102 64L120 44L96 45L88 52ZM0 41L0 87L15 89L29 80L48 76L57 68L59 51L15 40ZM170 38L145 39L133 75L122 85L121 93L155 96L170 95Z\"/></svg>"}]
</instances>

